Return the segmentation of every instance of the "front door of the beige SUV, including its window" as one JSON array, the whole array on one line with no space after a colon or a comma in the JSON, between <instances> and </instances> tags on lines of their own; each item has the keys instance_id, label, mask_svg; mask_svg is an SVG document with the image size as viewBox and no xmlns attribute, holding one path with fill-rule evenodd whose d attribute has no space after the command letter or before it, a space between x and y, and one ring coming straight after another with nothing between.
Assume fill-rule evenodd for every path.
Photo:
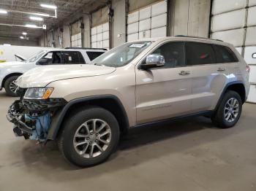
<instances>
[{"instance_id":1,"label":"front door of the beige SUV, including its window","mask_svg":"<svg viewBox=\"0 0 256 191\"><path fill-rule=\"evenodd\" d=\"M192 82L186 71L184 42L167 42L151 54L163 55L165 66L136 69L137 124L188 114Z\"/></svg>"}]
</instances>

